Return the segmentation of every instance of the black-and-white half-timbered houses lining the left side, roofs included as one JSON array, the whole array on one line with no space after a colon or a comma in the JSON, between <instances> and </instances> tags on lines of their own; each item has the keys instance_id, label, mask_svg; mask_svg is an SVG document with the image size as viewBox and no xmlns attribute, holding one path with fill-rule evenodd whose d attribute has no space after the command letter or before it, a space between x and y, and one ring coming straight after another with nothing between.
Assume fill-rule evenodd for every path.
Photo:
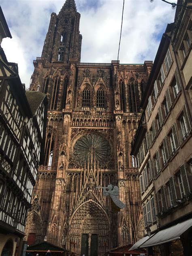
<instances>
[{"instance_id":1,"label":"black-and-white half-timbered houses lining the left side, roofs included","mask_svg":"<svg viewBox=\"0 0 192 256\"><path fill-rule=\"evenodd\" d=\"M6 22L2 15L0 10L0 19ZM8 62L0 47L1 255L22 249L32 188L43 160L46 116L46 95L25 90L17 64Z\"/></svg>"}]
</instances>

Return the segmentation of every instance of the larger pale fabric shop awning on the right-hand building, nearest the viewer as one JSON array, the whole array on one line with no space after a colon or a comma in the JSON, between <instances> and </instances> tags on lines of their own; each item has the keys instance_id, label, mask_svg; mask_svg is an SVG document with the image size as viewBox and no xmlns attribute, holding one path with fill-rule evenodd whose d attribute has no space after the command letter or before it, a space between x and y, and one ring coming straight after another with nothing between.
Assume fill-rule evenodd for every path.
<instances>
[{"instance_id":1,"label":"larger pale fabric shop awning on the right-hand building, nearest the viewer","mask_svg":"<svg viewBox=\"0 0 192 256\"><path fill-rule=\"evenodd\" d=\"M150 237L149 240L144 242L140 248L150 247L155 245L160 245L162 243L168 243L173 240L177 240L180 238L188 228L192 226L192 219L180 222L174 226L166 228L164 230L160 230L153 237Z\"/></svg>"}]
</instances>

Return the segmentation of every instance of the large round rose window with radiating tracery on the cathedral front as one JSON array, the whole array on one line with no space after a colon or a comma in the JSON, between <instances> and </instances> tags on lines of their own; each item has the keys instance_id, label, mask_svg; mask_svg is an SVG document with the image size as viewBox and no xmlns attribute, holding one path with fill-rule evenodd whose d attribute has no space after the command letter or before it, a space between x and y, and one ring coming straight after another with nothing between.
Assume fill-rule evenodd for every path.
<instances>
[{"instance_id":1,"label":"large round rose window with radiating tracery on the cathedral front","mask_svg":"<svg viewBox=\"0 0 192 256\"><path fill-rule=\"evenodd\" d=\"M105 163L109 162L111 158L111 146L108 143L107 138L100 134L85 134L82 135L73 146L73 158L75 162L82 167L85 162L96 161L99 166L105 166Z\"/></svg>"}]
</instances>

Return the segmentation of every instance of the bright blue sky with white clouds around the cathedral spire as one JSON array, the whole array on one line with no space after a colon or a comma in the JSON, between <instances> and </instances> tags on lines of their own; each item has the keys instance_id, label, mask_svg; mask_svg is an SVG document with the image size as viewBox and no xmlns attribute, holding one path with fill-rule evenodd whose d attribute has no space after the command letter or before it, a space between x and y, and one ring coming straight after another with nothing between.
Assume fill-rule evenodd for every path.
<instances>
[{"instance_id":1,"label":"bright blue sky with white clouds around the cathedral spire","mask_svg":"<svg viewBox=\"0 0 192 256\"><path fill-rule=\"evenodd\" d=\"M50 15L58 14L65 0L1 0L12 39L2 48L9 62L16 62L22 83L28 87L33 60L41 57ZM173 2L173 0L170 0ZM177 1L174 1L177 2ZM76 0L83 36L81 62L117 60L123 0ZM161 0L125 0L120 63L154 60L167 23L175 10Z\"/></svg>"}]
</instances>

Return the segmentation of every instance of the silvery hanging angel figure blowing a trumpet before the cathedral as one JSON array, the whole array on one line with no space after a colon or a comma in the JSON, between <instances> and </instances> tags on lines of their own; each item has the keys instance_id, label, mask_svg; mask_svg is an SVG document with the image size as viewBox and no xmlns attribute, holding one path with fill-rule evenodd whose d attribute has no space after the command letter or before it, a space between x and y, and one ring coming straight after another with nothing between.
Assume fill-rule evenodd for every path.
<instances>
[{"instance_id":1,"label":"silvery hanging angel figure blowing a trumpet before the cathedral","mask_svg":"<svg viewBox=\"0 0 192 256\"><path fill-rule=\"evenodd\" d=\"M104 196L109 196L111 197L112 199L112 206L113 206L113 209L115 211L120 211L121 209L123 209L125 207L125 204L119 200L119 188L117 186L114 186L113 190L112 190L113 186L111 184L109 184L106 187L102 187L103 189L103 192L102 194ZM108 189L108 190L107 190Z\"/></svg>"}]
</instances>

